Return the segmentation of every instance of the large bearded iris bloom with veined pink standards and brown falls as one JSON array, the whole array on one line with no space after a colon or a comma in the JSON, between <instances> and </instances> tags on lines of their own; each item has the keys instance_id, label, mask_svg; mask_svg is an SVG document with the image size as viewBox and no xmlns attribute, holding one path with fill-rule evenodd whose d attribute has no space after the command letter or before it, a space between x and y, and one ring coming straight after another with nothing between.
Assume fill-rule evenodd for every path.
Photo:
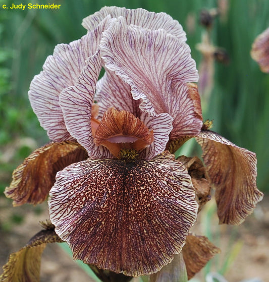
<instances>
[{"instance_id":1,"label":"large bearded iris bloom with veined pink standards and brown falls","mask_svg":"<svg viewBox=\"0 0 269 282\"><path fill-rule=\"evenodd\" d=\"M87 34L57 45L30 85L51 142L15 170L5 194L14 205L49 194L50 220L75 259L128 276L155 273L181 253L203 200L175 151L196 138L220 222L231 224L262 198L256 157L203 124L177 21L104 7L83 26Z\"/></svg>"}]
</instances>

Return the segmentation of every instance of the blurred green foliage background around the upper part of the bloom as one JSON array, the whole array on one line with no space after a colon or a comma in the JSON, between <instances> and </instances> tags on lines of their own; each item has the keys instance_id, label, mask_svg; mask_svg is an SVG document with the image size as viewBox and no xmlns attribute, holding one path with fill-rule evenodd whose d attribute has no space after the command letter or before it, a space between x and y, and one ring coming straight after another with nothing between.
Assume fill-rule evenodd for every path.
<instances>
[{"instance_id":1,"label":"blurred green foliage background around the upper part of the bloom","mask_svg":"<svg viewBox=\"0 0 269 282\"><path fill-rule=\"evenodd\" d=\"M257 154L258 187L269 191L269 75L259 70L250 57L255 37L269 26L267 0L40 0L38 4L61 4L57 10L4 10L6 4L35 1L0 0L0 190L11 180L13 169L33 149L48 141L28 101L34 75L58 43L83 36L82 19L103 6L144 8L166 12L178 20L187 33L192 57L204 27L199 24L202 9L227 5L227 14L214 20L211 40L225 48L229 64L214 63L214 84L203 112L214 121L216 131ZM2 194L2 193L1 193ZM2 194L3 195L3 194Z\"/></svg>"}]
</instances>

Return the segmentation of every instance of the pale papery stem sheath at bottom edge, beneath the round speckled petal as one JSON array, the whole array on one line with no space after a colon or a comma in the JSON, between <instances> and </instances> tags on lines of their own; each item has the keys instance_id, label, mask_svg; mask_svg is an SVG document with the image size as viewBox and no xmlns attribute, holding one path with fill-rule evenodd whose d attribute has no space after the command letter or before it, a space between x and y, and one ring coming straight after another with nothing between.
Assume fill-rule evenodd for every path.
<instances>
[{"instance_id":1,"label":"pale papery stem sheath at bottom edge, beneath the round speckled petal","mask_svg":"<svg viewBox=\"0 0 269 282\"><path fill-rule=\"evenodd\" d=\"M188 236L187 236L188 238ZM184 248L184 247L183 247ZM160 269L158 272L149 276L149 282L187 282L187 270L182 252L175 255L175 258Z\"/></svg>"}]
</instances>

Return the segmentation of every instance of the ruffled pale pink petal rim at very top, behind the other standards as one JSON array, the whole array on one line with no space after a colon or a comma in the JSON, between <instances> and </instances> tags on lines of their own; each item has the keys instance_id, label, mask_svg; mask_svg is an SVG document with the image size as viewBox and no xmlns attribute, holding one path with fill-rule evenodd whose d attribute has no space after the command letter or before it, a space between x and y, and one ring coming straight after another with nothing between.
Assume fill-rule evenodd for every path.
<instances>
[{"instance_id":1,"label":"ruffled pale pink petal rim at very top, behind the other standards","mask_svg":"<svg viewBox=\"0 0 269 282\"><path fill-rule=\"evenodd\" d=\"M128 25L137 25L145 29L156 30L164 29L168 33L173 34L178 39L186 41L186 33L178 21L174 20L166 13L148 12L144 9L126 9L120 7L103 7L100 11L83 19L82 25L89 31L106 17L110 15L112 18L120 16L126 19Z\"/></svg>"}]
</instances>

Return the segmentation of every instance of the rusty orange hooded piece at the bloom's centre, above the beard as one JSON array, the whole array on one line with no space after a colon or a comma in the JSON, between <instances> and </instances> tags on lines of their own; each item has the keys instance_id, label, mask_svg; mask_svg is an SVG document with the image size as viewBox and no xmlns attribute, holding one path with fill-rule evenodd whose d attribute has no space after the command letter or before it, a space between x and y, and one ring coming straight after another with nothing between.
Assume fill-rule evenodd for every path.
<instances>
[{"instance_id":1,"label":"rusty orange hooded piece at the bloom's centre, above the beard","mask_svg":"<svg viewBox=\"0 0 269 282\"><path fill-rule=\"evenodd\" d=\"M153 142L153 132L126 110L109 108L104 112L94 142L118 156L122 148L140 151Z\"/></svg>"}]
</instances>

